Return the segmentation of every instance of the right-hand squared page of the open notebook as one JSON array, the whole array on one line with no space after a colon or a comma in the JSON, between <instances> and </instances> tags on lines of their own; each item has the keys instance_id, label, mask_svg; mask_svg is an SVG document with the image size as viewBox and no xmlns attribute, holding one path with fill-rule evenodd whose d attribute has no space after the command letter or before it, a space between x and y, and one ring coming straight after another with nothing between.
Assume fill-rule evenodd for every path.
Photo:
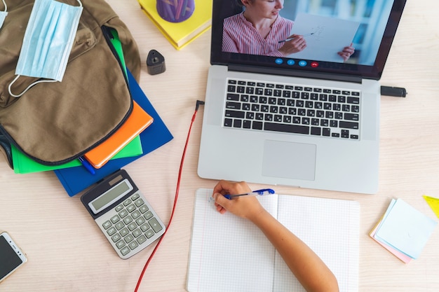
<instances>
[{"instance_id":1,"label":"right-hand squared page of the open notebook","mask_svg":"<svg viewBox=\"0 0 439 292\"><path fill-rule=\"evenodd\" d=\"M278 221L302 239L335 274L340 292L358 291L360 204L279 195ZM273 291L305 291L276 252Z\"/></svg>"}]
</instances>

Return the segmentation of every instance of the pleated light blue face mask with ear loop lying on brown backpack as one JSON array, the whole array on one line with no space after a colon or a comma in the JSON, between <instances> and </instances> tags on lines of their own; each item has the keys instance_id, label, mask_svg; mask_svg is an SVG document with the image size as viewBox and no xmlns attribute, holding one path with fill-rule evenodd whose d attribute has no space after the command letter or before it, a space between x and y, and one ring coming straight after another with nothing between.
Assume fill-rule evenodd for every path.
<instances>
[{"instance_id":1,"label":"pleated light blue face mask with ear loop lying on brown backpack","mask_svg":"<svg viewBox=\"0 0 439 292\"><path fill-rule=\"evenodd\" d=\"M18 57L9 94L20 97L36 83L62 81L83 10L54 0L35 0ZM20 76L46 78L13 95L11 87Z\"/></svg>"}]
</instances>

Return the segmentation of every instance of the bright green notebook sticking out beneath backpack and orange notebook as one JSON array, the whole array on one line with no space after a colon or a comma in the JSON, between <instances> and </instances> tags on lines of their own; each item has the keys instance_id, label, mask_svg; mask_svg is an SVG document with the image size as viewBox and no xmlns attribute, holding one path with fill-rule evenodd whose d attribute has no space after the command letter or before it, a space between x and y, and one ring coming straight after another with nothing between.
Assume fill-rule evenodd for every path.
<instances>
[{"instance_id":1,"label":"bright green notebook sticking out beneath backpack and orange notebook","mask_svg":"<svg viewBox=\"0 0 439 292\"><path fill-rule=\"evenodd\" d=\"M14 172L16 174L29 174L31 172L46 172L48 170L76 167L81 165L81 162L79 162L79 160L77 159L72 160L71 162L67 162L63 165L56 165L56 166L41 165L35 160L32 160L32 158L27 157L25 154L23 154L20 150L15 148L13 145L11 146L12 146L11 148L12 148L13 167L14 167ZM133 139L133 141L130 141L130 143L127 146L123 147L121 151L119 151L116 155L114 155L112 160L117 158L133 157L141 154L143 154L142 142L140 141L140 137L137 136L135 137L135 139Z\"/></svg>"}]
</instances>

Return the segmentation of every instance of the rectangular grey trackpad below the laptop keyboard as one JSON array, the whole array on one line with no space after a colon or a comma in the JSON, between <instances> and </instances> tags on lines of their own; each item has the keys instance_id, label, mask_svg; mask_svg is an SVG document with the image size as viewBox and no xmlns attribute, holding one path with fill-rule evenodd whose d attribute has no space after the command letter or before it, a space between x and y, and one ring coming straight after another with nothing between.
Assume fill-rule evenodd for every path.
<instances>
[{"instance_id":1,"label":"rectangular grey trackpad below the laptop keyboard","mask_svg":"<svg viewBox=\"0 0 439 292\"><path fill-rule=\"evenodd\" d=\"M316 145L283 141L264 142L262 175L313 181Z\"/></svg>"}]
</instances>

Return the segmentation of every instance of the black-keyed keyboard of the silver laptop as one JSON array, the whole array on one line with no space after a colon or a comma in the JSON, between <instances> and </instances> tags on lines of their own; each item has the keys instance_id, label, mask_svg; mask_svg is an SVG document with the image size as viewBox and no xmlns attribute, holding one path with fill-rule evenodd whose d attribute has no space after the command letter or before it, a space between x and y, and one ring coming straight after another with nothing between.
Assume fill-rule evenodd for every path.
<instances>
[{"instance_id":1,"label":"black-keyed keyboard of the silver laptop","mask_svg":"<svg viewBox=\"0 0 439 292\"><path fill-rule=\"evenodd\" d=\"M224 127L358 140L360 92L229 79Z\"/></svg>"}]
</instances>

